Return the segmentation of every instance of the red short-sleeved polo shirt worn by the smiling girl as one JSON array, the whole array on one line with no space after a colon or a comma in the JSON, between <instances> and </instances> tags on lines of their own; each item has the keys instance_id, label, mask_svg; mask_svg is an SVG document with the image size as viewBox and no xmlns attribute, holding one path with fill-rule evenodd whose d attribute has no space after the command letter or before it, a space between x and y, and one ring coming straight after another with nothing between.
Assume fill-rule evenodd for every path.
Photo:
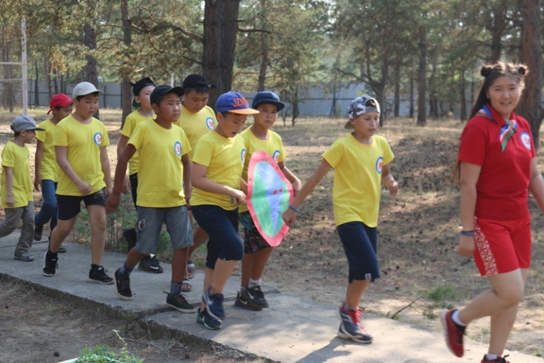
<instances>
[{"instance_id":1,"label":"red short-sleeved polo shirt worn by the smiling girl","mask_svg":"<svg viewBox=\"0 0 544 363\"><path fill-rule=\"evenodd\" d=\"M458 160L482 167L476 184L475 216L491 220L516 220L528 211L528 185L531 160L536 156L531 128L525 118L514 112L517 130L502 151L501 129L504 118L487 105L495 121L475 116L468 121Z\"/></svg>"}]
</instances>

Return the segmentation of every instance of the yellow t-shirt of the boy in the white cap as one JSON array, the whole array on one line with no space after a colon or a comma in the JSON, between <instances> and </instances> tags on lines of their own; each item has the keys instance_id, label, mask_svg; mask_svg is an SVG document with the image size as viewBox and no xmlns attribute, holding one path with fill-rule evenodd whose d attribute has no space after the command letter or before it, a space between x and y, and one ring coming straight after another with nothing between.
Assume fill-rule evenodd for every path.
<instances>
[{"instance_id":1,"label":"yellow t-shirt of the boy in the white cap","mask_svg":"<svg viewBox=\"0 0 544 363\"><path fill-rule=\"evenodd\" d=\"M100 148L110 145L110 139L106 126L101 121L92 118L91 123L86 125L77 121L74 116L63 118L55 128L53 145L67 147L67 160L72 165L72 169L92 187L89 194L96 193L106 186L100 162ZM83 195L60 167L57 194Z\"/></svg>"}]
</instances>

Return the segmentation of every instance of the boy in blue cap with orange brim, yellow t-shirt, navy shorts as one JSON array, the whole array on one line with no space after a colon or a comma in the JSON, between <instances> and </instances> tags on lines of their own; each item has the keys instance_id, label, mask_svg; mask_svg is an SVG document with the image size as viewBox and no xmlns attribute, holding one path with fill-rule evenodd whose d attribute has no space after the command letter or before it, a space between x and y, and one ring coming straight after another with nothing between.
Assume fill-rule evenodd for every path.
<instances>
[{"instance_id":1,"label":"boy in blue cap with orange brim, yellow t-shirt, navy shorts","mask_svg":"<svg viewBox=\"0 0 544 363\"><path fill-rule=\"evenodd\" d=\"M242 180L244 140L239 137L249 108L242 94L227 92L215 102L217 127L196 144L193 155L191 209L198 225L210 236L204 294L197 323L208 329L221 328L225 318L223 288L239 260L244 243L238 235L238 205L246 202L247 184Z\"/></svg>"}]
</instances>

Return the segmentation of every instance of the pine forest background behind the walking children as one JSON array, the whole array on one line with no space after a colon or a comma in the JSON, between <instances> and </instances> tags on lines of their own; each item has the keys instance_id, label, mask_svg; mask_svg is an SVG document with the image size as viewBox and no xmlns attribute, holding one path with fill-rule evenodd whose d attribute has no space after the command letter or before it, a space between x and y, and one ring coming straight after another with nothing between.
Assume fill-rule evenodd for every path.
<instances>
[{"instance_id":1,"label":"pine forest background behind the walking children","mask_svg":"<svg viewBox=\"0 0 544 363\"><path fill-rule=\"evenodd\" d=\"M356 82L382 105L392 99L381 124L399 116L403 95L421 126L455 106L467 119L484 62L525 62L518 111L538 145L541 14L539 0L0 0L0 62L20 61L25 18L28 78L49 96L67 83L121 82L123 120L129 81L197 72L216 86L211 106L231 89L273 89L293 105L294 125L305 87L335 94ZM0 77L17 72L4 66ZM0 83L11 111L16 85Z\"/></svg>"}]
</instances>

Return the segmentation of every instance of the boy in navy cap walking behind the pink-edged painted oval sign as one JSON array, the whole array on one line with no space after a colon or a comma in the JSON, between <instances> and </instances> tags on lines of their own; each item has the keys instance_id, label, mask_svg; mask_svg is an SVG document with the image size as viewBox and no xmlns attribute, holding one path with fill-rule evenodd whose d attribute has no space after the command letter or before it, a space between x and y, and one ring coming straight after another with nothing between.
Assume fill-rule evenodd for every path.
<instances>
[{"instance_id":1,"label":"boy in navy cap walking behind the pink-edged painted oval sign","mask_svg":"<svg viewBox=\"0 0 544 363\"><path fill-rule=\"evenodd\" d=\"M285 104L280 102L277 94L264 91L255 95L251 107L259 111L259 114L253 116L255 122L251 128L247 128L240 134L246 144L246 160L242 178L247 180L251 155L257 150L263 150L276 160L285 177L293 184L296 195L302 186L300 179L285 166L285 150L280 135L269 130L276 122L278 111L281 111ZM242 259L242 286L234 304L260 311L268 308L268 302L261 291L261 277L266 262L272 255L273 247L268 245L268 242L259 234L246 205L239 207L238 218L244 225L244 259Z\"/></svg>"}]
</instances>

